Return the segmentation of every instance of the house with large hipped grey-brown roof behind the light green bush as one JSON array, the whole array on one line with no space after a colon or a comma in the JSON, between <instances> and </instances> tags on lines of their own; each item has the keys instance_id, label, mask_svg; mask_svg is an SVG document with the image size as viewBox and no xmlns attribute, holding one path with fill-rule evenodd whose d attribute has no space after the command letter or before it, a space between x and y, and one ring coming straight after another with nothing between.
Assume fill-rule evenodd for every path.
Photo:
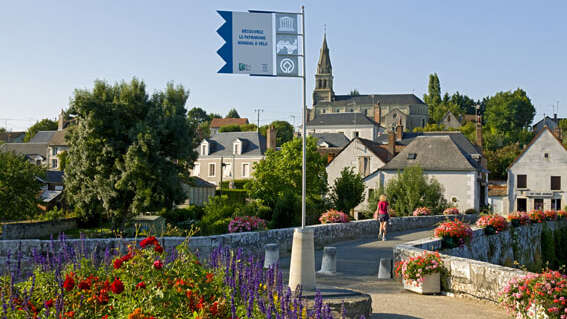
<instances>
[{"instance_id":1,"label":"house with large hipped grey-brown roof behind the light green bush","mask_svg":"<svg viewBox=\"0 0 567 319\"><path fill-rule=\"evenodd\" d=\"M406 167L420 166L443 187L447 201L464 211L487 203L488 171L480 150L460 132L425 133L415 137L382 168L367 176L369 191L397 178Z\"/></svg>"}]
</instances>

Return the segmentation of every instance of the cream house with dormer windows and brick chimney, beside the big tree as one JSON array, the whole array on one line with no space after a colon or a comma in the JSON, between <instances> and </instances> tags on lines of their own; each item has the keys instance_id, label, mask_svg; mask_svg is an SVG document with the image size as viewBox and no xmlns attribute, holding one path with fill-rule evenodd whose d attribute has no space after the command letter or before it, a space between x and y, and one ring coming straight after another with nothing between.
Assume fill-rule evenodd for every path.
<instances>
[{"instance_id":1,"label":"cream house with dormer windows and brick chimney, beside the big tree","mask_svg":"<svg viewBox=\"0 0 567 319\"><path fill-rule=\"evenodd\" d=\"M276 131L270 127L267 137L259 132L224 132L212 135L199 144L199 157L191 176L219 186L221 181L252 177L254 163L265 157L266 150L276 148Z\"/></svg>"}]
</instances>

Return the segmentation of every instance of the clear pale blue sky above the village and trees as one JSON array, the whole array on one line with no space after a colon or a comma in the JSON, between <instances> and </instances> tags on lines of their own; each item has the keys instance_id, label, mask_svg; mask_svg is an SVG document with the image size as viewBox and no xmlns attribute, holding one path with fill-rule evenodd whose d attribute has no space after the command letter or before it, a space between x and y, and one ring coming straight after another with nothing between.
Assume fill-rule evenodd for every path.
<instances>
[{"instance_id":1,"label":"clear pale blue sky above the village and trees","mask_svg":"<svg viewBox=\"0 0 567 319\"><path fill-rule=\"evenodd\" d=\"M75 89L137 77L190 91L187 109L260 123L301 123L297 78L218 74L216 10L305 5L307 101L327 30L335 94L414 93L429 74L474 99L522 88L536 120L567 117L566 1L12 1L0 0L0 127L55 119Z\"/></svg>"}]
</instances>

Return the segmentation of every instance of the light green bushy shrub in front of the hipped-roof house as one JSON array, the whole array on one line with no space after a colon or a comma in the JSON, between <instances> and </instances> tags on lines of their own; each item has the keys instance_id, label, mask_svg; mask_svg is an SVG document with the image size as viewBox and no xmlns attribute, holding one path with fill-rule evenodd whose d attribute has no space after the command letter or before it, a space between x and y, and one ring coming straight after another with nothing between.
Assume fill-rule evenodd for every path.
<instances>
[{"instance_id":1,"label":"light green bushy shrub in front of the hipped-roof house","mask_svg":"<svg viewBox=\"0 0 567 319\"><path fill-rule=\"evenodd\" d=\"M410 166L398 172L386 185L390 207L400 216L410 216L417 207L428 207L440 214L447 207L443 187L434 178L427 179L423 169Z\"/></svg>"}]
</instances>

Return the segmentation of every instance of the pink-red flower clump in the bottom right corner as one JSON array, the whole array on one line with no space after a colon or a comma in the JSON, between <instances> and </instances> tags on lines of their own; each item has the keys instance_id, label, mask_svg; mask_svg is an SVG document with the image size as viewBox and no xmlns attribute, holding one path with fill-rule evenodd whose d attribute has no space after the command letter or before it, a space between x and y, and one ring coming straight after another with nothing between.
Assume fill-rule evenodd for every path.
<instances>
[{"instance_id":1,"label":"pink-red flower clump in the bottom right corner","mask_svg":"<svg viewBox=\"0 0 567 319\"><path fill-rule=\"evenodd\" d=\"M517 318L567 317L567 276L558 271L514 279L501 295L502 304Z\"/></svg>"}]
</instances>

